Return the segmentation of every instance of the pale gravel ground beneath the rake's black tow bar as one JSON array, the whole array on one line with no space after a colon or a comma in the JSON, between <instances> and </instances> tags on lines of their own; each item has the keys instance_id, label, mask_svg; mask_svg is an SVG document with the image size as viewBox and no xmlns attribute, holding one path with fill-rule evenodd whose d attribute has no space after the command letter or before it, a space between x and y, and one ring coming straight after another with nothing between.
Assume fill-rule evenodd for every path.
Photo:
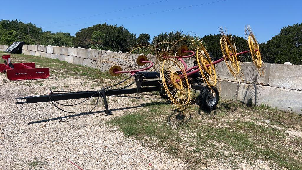
<instances>
[{"instance_id":1,"label":"pale gravel ground beneath the rake's black tow bar","mask_svg":"<svg viewBox=\"0 0 302 170\"><path fill-rule=\"evenodd\" d=\"M6 75L0 74L0 81L3 79L6 79ZM109 96L109 108L114 110L111 116L103 115L102 106L97 106L95 112L84 115L60 111L50 102L15 105L15 97L45 95L49 93L50 87L65 91L92 90L93 83L50 77L39 80L43 81L41 86L42 84L35 84L35 81L28 84L22 84L25 81L0 82L2 169L30 169L28 162L35 159L43 162L43 165L37 167L39 169L78 169L68 159L85 170L187 169L182 160L145 148L139 141L124 136L117 127L106 126L106 120L139 110L140 103L147 103L149 99L154 100L158 96L150 93L144 95L144 101L138 102L130 102L129 99L139 97L140 94L114 97L115 102ZM95 87L95 90L99 88ZM93 105L88 101L65 109L83 112L92 108ZM68 118L60 119L62 116Z\"/></svg>"}]
</instances>

